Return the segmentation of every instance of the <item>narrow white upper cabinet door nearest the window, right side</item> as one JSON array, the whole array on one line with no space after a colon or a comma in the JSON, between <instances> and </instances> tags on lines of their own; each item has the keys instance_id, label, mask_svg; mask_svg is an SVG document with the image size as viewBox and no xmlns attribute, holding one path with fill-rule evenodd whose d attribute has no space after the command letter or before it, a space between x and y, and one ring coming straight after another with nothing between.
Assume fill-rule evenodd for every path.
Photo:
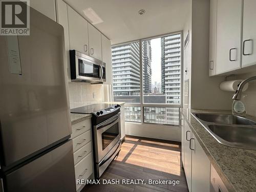
<instances>
[{"instance_id":1,"label":"narrow white upper cabinet door nearest the window, right side","mask_svg":"<svg viewBox=\"0 0 256 192\"><path fill-rule=\"evenodd\" d=\"M209 76L216 75L217 0L210 0Z\"/></svg>"}]
</instances>

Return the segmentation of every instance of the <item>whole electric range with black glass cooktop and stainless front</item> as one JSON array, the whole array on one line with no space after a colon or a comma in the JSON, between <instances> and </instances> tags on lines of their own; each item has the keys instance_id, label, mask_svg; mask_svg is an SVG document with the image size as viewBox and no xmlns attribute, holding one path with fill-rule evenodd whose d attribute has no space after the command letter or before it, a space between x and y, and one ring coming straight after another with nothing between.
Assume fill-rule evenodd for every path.
<instances>
[{"instance_id":1,"label":"whole electric range with black glass cooktop and stainless front","mask_svg":"<svg viewBox=\"0 0 256 192\"><path fill-rule=\"evenodd\" d=\"M92 114L95 177L100 178L121 149L119 104L91 104L71 109L71 113Z\"/></svg>"}]
</instances>

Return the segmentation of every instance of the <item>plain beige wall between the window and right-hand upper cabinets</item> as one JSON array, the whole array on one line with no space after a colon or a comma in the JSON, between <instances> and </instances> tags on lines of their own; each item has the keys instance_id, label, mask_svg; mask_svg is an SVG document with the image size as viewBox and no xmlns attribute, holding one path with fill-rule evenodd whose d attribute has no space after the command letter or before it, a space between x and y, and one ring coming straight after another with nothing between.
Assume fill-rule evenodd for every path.
<instances>
[{"instance_id":1,"label":"plain beige wall between the window and right-hand upper cabinets","mask_svg":"<svg viewBox=\"0 0 256 192\"><path fill-rule=\"evenodd\" d=\"M191 67L188 67L188 70L191 69L188 71L191 75L189 79L191 109L230 110L232 93L219 89L219 84L225 80L225 77L208 76L209 0L192 0L191 7ZM189 53L186 55L189 57Z\"/></svg>"}]
</instances>

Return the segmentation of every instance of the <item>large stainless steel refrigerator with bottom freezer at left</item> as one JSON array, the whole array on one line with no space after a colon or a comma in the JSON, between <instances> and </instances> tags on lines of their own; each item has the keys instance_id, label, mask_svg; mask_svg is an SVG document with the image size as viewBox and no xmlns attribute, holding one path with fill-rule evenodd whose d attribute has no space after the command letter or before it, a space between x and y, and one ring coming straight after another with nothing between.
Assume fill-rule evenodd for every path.
<instances>
[{"instance_id":1,"label":"large stainless steel refrigerator with bottom freezer at left","mask_svg":"<svg viewBox=\"0 0 256 192\"><path fill-rule=\"evenodd\" d=\"M62 26L32 8L30 35L0 36L4 191L75 191L64 49Z\"/></svg>"}]
</instances>

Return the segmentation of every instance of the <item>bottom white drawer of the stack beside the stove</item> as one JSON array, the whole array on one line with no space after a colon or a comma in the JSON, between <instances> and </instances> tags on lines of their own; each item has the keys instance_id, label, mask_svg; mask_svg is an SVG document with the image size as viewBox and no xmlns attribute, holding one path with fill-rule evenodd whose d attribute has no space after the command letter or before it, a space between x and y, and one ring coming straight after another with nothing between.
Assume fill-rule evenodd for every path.
<instances>
[{"instance_id":1,"label":"bottom white drawer of the stack beside the stove","mask_svg":"<svg viewBox=\"0 0 256 192\"><path fill-rule=\"evenodd\" d=\"M75 177L77 179L88 179L93 173L93 159L92 152L84 157L77 165L75 166ZM76 185L76 190L80 187L80 184Z\"/></svg>"}]
</instances>

